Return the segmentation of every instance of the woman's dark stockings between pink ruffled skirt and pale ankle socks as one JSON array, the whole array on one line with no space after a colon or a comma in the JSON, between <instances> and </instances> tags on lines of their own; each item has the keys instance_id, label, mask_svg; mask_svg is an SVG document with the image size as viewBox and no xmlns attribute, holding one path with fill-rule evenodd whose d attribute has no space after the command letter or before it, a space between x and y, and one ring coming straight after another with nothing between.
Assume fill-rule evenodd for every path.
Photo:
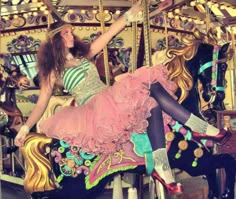
<instances>
[{"instance_id":1,"label":"woman's dark stockings between pink ruffled skirt and pale ankle socks","mask_svg":"<svg viewBox=\"0 0 236 199\"><path fill-rule=\"evenodd\" d=\"M183 124L189 119L191 113L173 99L159 82L151 85L150 96L159 104L158 107L151 110L152 116L148 118L149 126L147 132L154 151L158 148L165 148L162 111Z\"/></svg>"}]
</instances>

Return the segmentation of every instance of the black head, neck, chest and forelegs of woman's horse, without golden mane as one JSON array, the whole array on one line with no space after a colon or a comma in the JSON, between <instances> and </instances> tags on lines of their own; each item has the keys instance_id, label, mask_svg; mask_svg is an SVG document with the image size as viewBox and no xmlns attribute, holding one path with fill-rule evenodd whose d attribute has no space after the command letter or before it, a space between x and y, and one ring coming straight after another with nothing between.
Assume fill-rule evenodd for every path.
<instances>
[{"instance_id":1,"label":"black head, neck, chest and forelegs of woman's horse, without golden mane","mask_svg":"<svg viewBox=\"0 0 236 199\"><path fill-rule=\"evenodd\" d=\"M193 86L188 92L188 97L181 104L186 109L190 110L195 115L202 117L203 119L205 117L200 110L200 93L197 82L200 81L202 84L203 91L201 95L203 99L208 102L211 112L215 113L218 110L224 110L224 77L227 69L226 52L228 51L228 47L229 44L225 44L219 48L219 46L216 45L202 43L198 46L196 55L192 59L185 61L185 66L192 77ZM178 55L178 51L178 49L170 49L169 53ZM211 114L209 116L210 117L205 119L207 119L207 121L211 120L211 122L214 121L214 124L216 124L216 115ZM173 127L175 130L175 128L179 125L175 123L176 122L173 122L171 125L172 130ZM225 182L225 190L221 195L221 198L233 199L235 177L232 176L235 176L236 173L236 162L234 158L230 154L212 154L207 150L207 147L202 147L202 143L199 145L199 143L197 144L195 141L191 141L191 139L187 142L188 149L186 150L184 147L186 143L185 140L188 136L190 136L190 134L188 134L188 130L181 129L183 128L181 126L182 125L178 126L176 130L182 132L182 135L178 134L176 138L173 139L171 148L168 151L169 157L172 157L170 158L171 167L184 170L192 176L205 175L209 185L209 199L219 197L216 169L224 168L227 177ZM180 147L181 142L183 145L182 150ZM207 146L207 143L205 143L205 145ZM181 156L181 158L179 156ZM186 158L186 161L178 160L182 158ZM187 166L185 163L191 161L191 159L192 165Z\"/></svg>"}]
</instances>

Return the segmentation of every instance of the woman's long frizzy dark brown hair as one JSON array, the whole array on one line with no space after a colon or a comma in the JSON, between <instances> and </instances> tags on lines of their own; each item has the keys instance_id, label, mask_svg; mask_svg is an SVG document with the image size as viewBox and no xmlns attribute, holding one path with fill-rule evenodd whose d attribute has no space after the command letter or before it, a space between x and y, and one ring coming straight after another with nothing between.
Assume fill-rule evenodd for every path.
<instances>
[{"instance_id":1,"label":"woman's long frizzy dark brown hair","mask_svg":"<svg viewBox=\"0 0 236 199\"><path fill-rule=\"evenodd\" d=\"M67 24L64 21L57 21L50 26L50 31L58 29ZM74 47L69 51L75 57L86 56L90 49L90 44L83 42L77 36L74 36ZM37 54L37 67L40 81L48 80L52 71L55 72L56 77L60 77L64 70L66 63L66 52L63 38L60 31L47 40L40 46Z\"/></svg>"}]
</instances>

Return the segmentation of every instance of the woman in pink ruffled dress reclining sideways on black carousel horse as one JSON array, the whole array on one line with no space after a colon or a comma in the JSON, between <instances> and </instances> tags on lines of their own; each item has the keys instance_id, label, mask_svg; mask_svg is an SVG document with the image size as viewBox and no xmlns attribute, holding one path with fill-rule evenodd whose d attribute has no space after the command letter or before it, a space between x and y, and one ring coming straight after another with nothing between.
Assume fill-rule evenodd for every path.
<instances>
[{"instance_id":1,"label":"woman in pink ruffled dress reclining sideways on black carousel horse","mask_svg":"<svg viewBox=\"0 0 236 199\"><path fill-rule=\"evenodd\" d=\"M172 176L165 148L162 112L168 114L164 114L165 124L173 117L193 131L202 133L201 136L196 134L197 138L221 141L229 132L219 131L180 106L173 98L177 86L168 80L167 71L162 65L142 67L110 87L101 82L90 60L139 11L140 6L136 3L128 14L114 22L91 45L79 40L69 24L56 22L51 26L49 38L38 52L40 96L17 134L15 144L23 146L26 134L44 113L53 87L63 85L76 98L78 106L62 108L42 122L42 133L97 155L113 153L122 148L131 133L147 130L155 170L170 193L178 193L181 189ZM155 176L158 178L159 175Z\"/></svg>"}]
</instances>

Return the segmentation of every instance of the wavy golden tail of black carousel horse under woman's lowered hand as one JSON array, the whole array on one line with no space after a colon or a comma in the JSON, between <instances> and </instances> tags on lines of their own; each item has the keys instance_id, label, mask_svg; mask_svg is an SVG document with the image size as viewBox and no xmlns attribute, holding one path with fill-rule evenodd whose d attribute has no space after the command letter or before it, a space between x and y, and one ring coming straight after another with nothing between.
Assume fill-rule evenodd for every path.
<instances>
[{"instance_id":1,"label":"wavy golden tail of black carousel horse under woman's lowered hand","mask_svg":"<svg viewBox=\"0 0 236 199\"><path fill-rule=\"evenodd\" d=\"M30 133L22 148L26 162L24 188L28 193L49 191L57 188L52 174L50 160L47 158L47 147L52 139L42 134Z\"/></svg>"}]
</instances>

